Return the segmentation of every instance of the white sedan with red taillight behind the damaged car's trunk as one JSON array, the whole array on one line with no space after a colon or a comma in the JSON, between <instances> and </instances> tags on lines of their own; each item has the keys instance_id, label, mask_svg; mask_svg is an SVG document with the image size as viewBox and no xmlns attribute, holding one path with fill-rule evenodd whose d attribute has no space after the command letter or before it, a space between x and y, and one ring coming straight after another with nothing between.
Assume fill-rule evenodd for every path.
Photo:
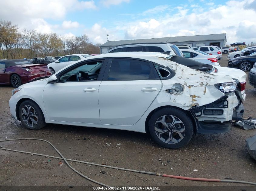
<instances>
[{"instance_id":1,"label":"white sedan with red taillight behind the damaged car's trunk","mask_svg":"<svg viewBox=\"0 0 256 191\"><path fill-rule=\"evenodd\" d=\"M216 56L209 55L199 50L181 49L186 58L204 63L219 66Z\"/></svg>"}]
</instances>

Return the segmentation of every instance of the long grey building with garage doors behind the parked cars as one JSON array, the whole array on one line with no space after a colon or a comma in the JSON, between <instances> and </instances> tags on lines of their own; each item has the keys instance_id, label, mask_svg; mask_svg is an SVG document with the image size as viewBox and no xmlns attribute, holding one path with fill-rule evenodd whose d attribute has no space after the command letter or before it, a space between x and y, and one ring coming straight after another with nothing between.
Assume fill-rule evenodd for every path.
<instances>
[{"instance_id":1,"label":"long grey building with garage doors behind the parked cars","mask_svg":"<svg viewBox=\"0 0 256 191\"><path fill-rule=\"evenodd\" d=\"M173 43L176 45L188 45L191 47L196 46L225 46L227 34L205 34L183 37L163 37L163 38L150 38L150 39L137 39L137 40L118 40L108 41L101 45L101 54L106 53L111 48L124 44L133 43Z\"/></svg>"}]
</instances>

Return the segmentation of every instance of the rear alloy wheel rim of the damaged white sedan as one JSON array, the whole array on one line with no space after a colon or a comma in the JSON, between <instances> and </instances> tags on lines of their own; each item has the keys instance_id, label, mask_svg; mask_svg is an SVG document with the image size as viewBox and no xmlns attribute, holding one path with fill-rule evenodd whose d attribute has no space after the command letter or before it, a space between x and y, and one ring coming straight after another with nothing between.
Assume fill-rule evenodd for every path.
<instances>
[{"instance_id":1,"label":"rear alloy wheel rim of the damaged white sedan","mask_svg":"<svg viewBox=\"0 0 256 191\"><path fill-rule=\"evenodd\" d=\"M176 144L184 138L185 126L178 117L164 115L156 121L155 133L161 141Z\"/></svg>"}]
</instances>

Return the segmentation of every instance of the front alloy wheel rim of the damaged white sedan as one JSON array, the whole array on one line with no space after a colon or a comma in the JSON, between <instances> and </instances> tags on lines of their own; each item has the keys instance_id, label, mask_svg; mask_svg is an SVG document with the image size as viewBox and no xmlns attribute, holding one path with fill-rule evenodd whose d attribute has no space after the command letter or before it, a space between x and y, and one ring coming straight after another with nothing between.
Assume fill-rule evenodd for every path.
<instances>
[{"instance_id":1,"label":"front alloy wheel rim of the damaged white sedan","mask_svg":"<svg viewBox=\"0 0 256 191\"><path fill-rule=\"evenodd\" d=\"M23 121L29 126L34 127L38 122L38 116L35 109L30 105L22 107L21 116Z\"/></svg>"}]
</instances>

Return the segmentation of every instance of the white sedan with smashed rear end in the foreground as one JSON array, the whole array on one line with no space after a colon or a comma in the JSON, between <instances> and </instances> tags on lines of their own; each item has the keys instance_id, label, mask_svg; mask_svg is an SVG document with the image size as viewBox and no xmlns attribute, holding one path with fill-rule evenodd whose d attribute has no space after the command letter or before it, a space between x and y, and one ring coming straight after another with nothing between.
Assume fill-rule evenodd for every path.
<instances>
[{"instance_id":1,"label":"white sedan with smashed rear end in the foreground","mask_svg":"<svg viewBox=\"0 0 256 191\"><path fill-rule=\"evenodd\" d=\"M246 74L202 72L162 53L110 53L79 60L12 91L12 116L28 129L46 123L149 132L166 148L192 134L223 133L244 108ZM185 58L186 59L186 58Z\"/></svg>"}]
</instances>

